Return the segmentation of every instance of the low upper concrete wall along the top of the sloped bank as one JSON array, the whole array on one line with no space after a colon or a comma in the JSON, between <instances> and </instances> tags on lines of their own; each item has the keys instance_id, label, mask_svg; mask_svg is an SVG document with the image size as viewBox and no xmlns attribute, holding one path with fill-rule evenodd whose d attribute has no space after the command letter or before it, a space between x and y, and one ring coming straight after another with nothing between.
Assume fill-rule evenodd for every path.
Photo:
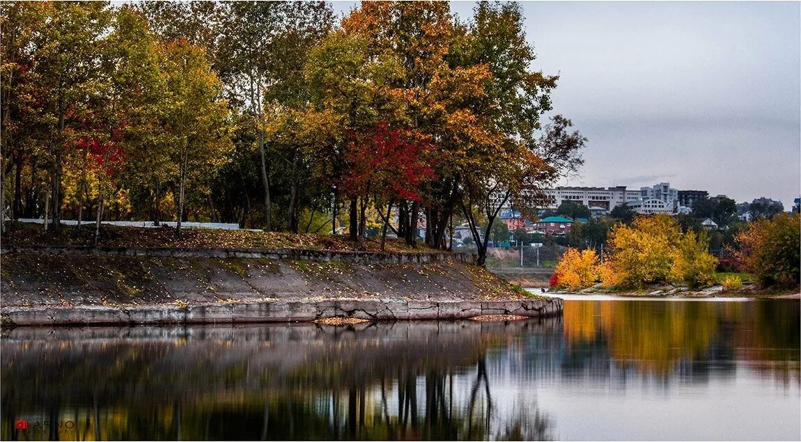
<instances>
[{"instance_id":1,"label":"low upper concrete wall along the top of the sloped bank","mask_svg":"<svg viewBox=\"0 0 801 442\"><path fill-rule=\"evenodd\" d=\"M305 259L308 261L361 264L475 263L471 253L421 252L382 253L378 251L321 251L296 248L175 248L175 247L3 247L0 254L153 256L159 258L251 258Z\"/></svg>"}]
</instances>

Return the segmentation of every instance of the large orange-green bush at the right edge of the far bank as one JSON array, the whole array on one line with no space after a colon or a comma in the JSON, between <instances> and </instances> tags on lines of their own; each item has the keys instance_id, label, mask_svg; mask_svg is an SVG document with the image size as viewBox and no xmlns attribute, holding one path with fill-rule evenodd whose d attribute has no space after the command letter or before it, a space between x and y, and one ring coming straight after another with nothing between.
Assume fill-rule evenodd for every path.
<instances>
[{"instance_id":1,"label":"large orange-green bush at the right edge of the far bank","mask_svg":"<svg viewBox=\"0 0 801 442\"><path fill-rule=\"evenodd\" d=\"M799 287L801 278L801 217L776 215L759 219L740 231L735 240L735 258L743 270L754 275L759 287Z\"/></svg>"}]
</instances>

